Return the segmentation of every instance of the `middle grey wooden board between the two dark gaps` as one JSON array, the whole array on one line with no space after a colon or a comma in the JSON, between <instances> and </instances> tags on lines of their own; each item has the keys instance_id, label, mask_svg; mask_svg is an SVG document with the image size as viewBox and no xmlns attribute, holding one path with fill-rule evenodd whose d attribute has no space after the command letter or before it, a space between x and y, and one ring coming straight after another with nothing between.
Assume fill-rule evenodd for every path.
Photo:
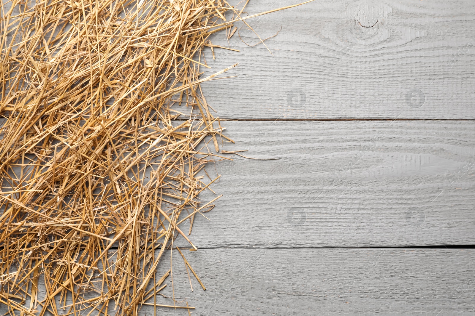
<instances>
[{"instance_id":1,"label":"middle grey wooden board between the two dark gaps","mask_svg":"<svg viewBox=\"0 0 475 316\"><path fill-rule=\"evenodd\" d=\"M198 247L475 244L473 121L221 125L225 150L279 159L216 163L224 196L196 217Z\"/></svg>"}]
</instances>

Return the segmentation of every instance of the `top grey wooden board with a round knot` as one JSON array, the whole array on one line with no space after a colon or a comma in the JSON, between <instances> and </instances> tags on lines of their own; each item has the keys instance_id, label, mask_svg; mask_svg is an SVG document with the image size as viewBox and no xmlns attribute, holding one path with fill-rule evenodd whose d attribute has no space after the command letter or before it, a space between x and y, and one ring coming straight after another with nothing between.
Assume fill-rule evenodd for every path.
<instances>
[{"instance_id":1,"label":"top grey wooden board with a round knot","mask_svg":"<svg viewBox=\"0 0 475 316\"><path fill-rule=\"evenodd\" d=\"M235 1L237 2L237 1ZM250 1L254 14L302 2ZM242 7L241 3L238 8ZM242 24L242 23L241 23ZM241 26L237 23L237 26ZM209 104L227 118L475 118L472 0L318 0L211 38Z\"/></svg>"}]
</instances>

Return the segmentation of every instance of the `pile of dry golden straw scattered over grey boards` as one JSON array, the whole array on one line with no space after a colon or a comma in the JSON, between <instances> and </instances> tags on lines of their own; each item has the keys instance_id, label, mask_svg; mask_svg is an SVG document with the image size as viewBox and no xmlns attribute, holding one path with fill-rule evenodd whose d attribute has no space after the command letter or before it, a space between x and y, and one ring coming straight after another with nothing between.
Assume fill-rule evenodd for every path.
<instances>
[{"instance_id":1,"label":"pile of dry golden straw scattered over grey boards","mask_svg":"<svg viewBox=\"0 0 475 316\"><path fill-rule=\"evenodd\" d=\"M203 49L219 47L215 32L232 36L243 9L2 1L0 304L12 315L167 306L156 300L171 274L161 258L178 236L196 250L193 220L218 199L198 199L218 179L198 174L229 159L200 83L235 65L200 78ZM179 305L168 306L192 308Z\"/></svg>"}]
</instances>

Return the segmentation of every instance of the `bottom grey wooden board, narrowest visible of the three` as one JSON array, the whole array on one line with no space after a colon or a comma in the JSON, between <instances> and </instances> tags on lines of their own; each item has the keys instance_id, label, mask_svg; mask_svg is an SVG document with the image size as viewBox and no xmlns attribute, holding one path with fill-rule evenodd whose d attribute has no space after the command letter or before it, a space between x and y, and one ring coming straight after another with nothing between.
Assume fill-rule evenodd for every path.
<instances>
[{"instance_id":1,"label":"bottom grey wooden board, narrowest visible of the three","mask_svg":"<svg viewBox=\"0 0 475 316\"><path fill-rule=\"evenodd\" d=\"M191 315L474 315L473 249L206 249L174 252L175 298ZM170 264L170 261L165 262ZM173 305L171 278L158 304ZM179 304L180 306L186 303ZM321 313L321 314L319 314ZM361 313L361 314L359 314ZM142 307L140 315L153 315ZM188 315L157 308L157 315Z\"/></svg>"}]
</instances>

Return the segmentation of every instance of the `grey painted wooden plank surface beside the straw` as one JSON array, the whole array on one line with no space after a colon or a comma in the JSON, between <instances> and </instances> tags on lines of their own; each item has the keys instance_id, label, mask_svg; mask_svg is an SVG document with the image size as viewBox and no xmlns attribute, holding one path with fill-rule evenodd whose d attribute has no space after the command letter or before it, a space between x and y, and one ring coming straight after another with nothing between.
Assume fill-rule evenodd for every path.
<instances>
[{"instance_id":1,"label":"grey painted wooden plank surface beside the straw","mask_svg":"<svg viewBox=\"0 0 475 316\"><path fill-rule=\"evenodd\" d=\"M316 0L248 23L280 30L272 54L245 27L214 36L240 52L215 48L209 73L239 66L204 93L223 149L279 159L216 163L224 196L187 254L207 290L176 255L175 297L207 316L475 315L475 3Z\"/></svg>"}]
</instances>

